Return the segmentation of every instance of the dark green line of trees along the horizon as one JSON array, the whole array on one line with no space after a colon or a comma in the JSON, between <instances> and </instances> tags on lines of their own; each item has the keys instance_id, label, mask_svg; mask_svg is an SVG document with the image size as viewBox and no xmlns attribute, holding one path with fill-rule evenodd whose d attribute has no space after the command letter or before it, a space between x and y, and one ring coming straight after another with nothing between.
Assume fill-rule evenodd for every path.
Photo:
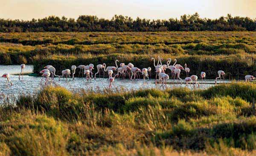
<instances>
[{"instance_id":1,"label":"dark green line of trees along the horizon","mask_svg":"<svg viewBox=\"0 0 256 156\"><path fill-rule=\"evenodd\" d=\"M122 15L114 15L111 20L90 15L81 15L77 20L55 16L28 21L0 19L0 32L37 31L256 31L256 19L227 14L212 20L200 18L198 13L184 14L180 20L133 20Z\"/></svg>"}]
</instances>

